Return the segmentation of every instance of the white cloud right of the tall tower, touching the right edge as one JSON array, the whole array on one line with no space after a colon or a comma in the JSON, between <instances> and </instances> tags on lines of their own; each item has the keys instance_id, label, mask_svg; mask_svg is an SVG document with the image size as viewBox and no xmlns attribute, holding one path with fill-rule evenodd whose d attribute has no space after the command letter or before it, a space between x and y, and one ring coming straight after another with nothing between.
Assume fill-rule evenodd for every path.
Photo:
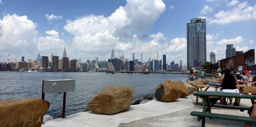
<instances>
[{"instance_id":1,"label":"white cloud right of the tall tower, touching the right edge","mask_svg":"<svg viewBox=\"0 0 256 127\"><path fill-rule=\"evenodd\" d=\"M238 4L228 11L218 11L214 14L215 19L208 20L208 23L227 24L238 21L256 20L256 4L248 6L247 2Z\"/></svg>"}]
</instances>

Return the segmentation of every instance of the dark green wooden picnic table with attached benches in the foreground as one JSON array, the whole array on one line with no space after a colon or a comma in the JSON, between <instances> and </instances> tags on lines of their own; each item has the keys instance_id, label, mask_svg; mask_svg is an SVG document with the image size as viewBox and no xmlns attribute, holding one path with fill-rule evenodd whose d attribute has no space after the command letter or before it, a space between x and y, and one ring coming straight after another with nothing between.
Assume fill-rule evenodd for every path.
<instances>
[{"instance_id":1,"label":"dark green wooden picnic table with attached benches in the foreground","mask_svg":"<svg viewBox=\"0 0 256 127\"><path fill-rule=\"evenodd\" d=\"M224 119L224 120L233 120L233 121L241 121L241 122L251 122L256 123L256 118L250 118L247 116L234 116L234 115L227 115L227 114L218 114L218 113L211 113L211 107L216 105L218 99L215 102L210 104L209 97L225 97L225 98L240 98L240 99L256 99L254 95L244 95L241 93L226 93L226 92L213 92L213 91L198 91L194 93L195 96L200 96L203 98L203 111L202 112L191 112L190 115L198 116L198 121L202 119L202 127L205 127L205 118L214 118L214 119ZM216 107L216 106L215 106ZM248 110L249 107L241 107L241 106L233 106L233 105L220 105L217 104L217 107L221 108L231 108L237 110Z\"/></svg>"}]
</instances>

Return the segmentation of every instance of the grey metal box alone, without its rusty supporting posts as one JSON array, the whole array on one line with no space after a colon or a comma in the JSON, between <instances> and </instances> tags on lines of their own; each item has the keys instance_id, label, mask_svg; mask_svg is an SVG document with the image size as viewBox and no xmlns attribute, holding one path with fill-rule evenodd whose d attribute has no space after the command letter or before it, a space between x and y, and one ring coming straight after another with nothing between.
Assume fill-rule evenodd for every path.
<instances>
[{"instance_id":1,"label":"grey metal box alone, without its rusty supporting posts","mask_svg":"<svg viewBox=\"0 0 256 127\"><path fill-rule=\"evenodd\" d=\"M75 90L75 81L73 79L64 80L44 80L44 93L62 93Z\"/></svg>"}]
</instances>

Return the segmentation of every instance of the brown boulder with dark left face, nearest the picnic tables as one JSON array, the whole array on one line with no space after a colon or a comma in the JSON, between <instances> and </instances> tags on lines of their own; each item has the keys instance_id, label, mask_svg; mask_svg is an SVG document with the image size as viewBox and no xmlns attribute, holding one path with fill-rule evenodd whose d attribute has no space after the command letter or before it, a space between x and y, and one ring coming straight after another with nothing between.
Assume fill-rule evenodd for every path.
<instances>
[{"instance_id":1,"label":"brown boulder with dark left face, nearest the picnic tables","mask_svg":"<svg viewBox=\"0 0 256 127\"><path fill-rule=\"evenodd\" d=\"M182 93L177 83L163 82L160 83L155 92L155 97L161 102L174 102Z\"/></svg>"}]
</instances>

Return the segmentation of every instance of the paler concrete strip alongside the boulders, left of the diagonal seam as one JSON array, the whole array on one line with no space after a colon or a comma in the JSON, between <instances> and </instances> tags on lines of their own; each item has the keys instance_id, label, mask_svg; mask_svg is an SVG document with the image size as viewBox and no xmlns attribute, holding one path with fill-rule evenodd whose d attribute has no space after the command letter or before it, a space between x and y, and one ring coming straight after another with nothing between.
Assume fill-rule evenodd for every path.
<instances>
[{"instance_id":1,"label":"paler concrete strip alongside the boulders, left of the diagonal seam","mask_svg":"<svg viewBox=\"0 0 256 127\"><path fill-rule=\"evenodd\" d=\"M42 127L118 127L120 124L175 113L192 107L195 107L195 104L190 96L170 103L152 100L145 104L132 105L129 110L114 115L82 112L69 115L65 119L58 118L47 121L45 124L42 124Z\"/></svg>"}]
</instances>

